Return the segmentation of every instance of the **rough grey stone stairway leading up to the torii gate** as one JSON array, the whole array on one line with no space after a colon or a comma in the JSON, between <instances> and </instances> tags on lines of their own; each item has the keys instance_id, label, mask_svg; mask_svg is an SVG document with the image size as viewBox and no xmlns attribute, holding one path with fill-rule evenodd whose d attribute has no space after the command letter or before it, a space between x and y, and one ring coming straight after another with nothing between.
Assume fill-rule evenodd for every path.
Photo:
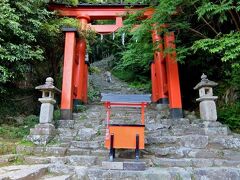
<instances>
[{"instance_id":1,"label":"rough grey stone stairway leading up to the torii gate","mask_svg":"<svg viewBox=\"0 0 240 180\"><path fill-rule=\"evenodd\" d=\"M104 81L104 77L98 79L100 84ZM135 92L121 81L113 81L109 91L121 86L121 92ZM146 170L104 169L102 162L108 161L103 145L106 112L102 105L86 107L86 111L75 113L73 120L58 121L58 135L51 144L19 145L16 154L0 156L0 179L240 179L239 134L219 122L195 117L169 119L168 109L154 104L146 109L146 146L140 154ZM111 114L113 123L136 123L139 117L134 108L116 108ZM134 151L116 150L116 157L133 161Z\"/></svg>"}]
</instances>

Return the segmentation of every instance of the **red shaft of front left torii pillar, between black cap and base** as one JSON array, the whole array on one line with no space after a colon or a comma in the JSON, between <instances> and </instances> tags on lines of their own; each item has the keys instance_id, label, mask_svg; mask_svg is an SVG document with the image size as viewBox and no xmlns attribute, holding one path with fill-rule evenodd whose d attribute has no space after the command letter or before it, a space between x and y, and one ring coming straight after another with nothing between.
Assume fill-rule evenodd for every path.
<instances>
[{"instance_id":1,"label":"red shaft of front left torii pillar, between black cap and base","mask_svg":"<svg viewBox=\"0 0 240 180\"><path fill-rule=\"evenodd\" d=\"M71 110L73 107L73 65L75 61L75 44L75 32L66 32L61 101L61 109L65 110Z\"/></svg>"}]
</instances>

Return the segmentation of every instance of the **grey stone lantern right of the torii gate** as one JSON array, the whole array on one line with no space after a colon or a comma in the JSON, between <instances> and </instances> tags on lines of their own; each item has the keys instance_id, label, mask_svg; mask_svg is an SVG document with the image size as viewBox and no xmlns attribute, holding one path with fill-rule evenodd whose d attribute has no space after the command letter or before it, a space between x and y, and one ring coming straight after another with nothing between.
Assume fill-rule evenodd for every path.
<instances>
[{"instance_id":1,"label":"grey stone lantern right of the torii gate","mask_svg":"<svg viewBox=\"0 0 240 180\"><path fill-rule=\"evenodd\" d=\"M200 102L200 117L202 120L216 121L217 109L215 100L218 97L213 96L212 88L218 84L216 82L208 80L205 74L201 76L201 79L201 82L194 87L194 90L199 90L199 98L196 100Z\"/></svg>"}]
</instances>

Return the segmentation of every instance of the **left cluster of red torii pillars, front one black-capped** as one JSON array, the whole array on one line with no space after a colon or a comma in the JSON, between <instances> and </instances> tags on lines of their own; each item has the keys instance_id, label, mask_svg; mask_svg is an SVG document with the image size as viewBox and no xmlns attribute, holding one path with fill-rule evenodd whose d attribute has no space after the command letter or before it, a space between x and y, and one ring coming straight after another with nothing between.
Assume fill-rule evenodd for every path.
<instances>
[{"instance_id":1,"label":"left cluster of red torii pillars, front one black-capped","mask_svg":"<svg viewBox=\"0 0 240 180\"><path fill-rule=\"evenodd\" d=\"M78 16L81 30L85 31L90 20L88 16ZM86 40L77 36L78 29L63 28L65 49L61 99L61 119L72 119L73 107L87 103L88 64L85 62ZM73 106L74 104L74 106Z\"/></svg>"}]
</instances>

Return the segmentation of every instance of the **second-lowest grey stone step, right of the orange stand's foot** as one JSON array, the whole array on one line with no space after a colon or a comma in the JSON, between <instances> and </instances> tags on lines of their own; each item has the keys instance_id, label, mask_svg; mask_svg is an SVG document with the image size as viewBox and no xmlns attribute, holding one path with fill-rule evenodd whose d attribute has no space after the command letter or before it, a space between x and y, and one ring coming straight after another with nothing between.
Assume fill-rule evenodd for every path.
<instances>
[{"instance_id":1,"label":"second-lowest grey stone step, right of the orange stand's foot","mask_svg":"<svg viewBox=\"0 0 240 180\"><path fill-rule=\"evenodd\" d=\"M223 160L215 158L181 158L181 159L170 159L170 158L152 158L154 166L158 167L240 167L240 160Z\"/></svg>"}]
</instances>

